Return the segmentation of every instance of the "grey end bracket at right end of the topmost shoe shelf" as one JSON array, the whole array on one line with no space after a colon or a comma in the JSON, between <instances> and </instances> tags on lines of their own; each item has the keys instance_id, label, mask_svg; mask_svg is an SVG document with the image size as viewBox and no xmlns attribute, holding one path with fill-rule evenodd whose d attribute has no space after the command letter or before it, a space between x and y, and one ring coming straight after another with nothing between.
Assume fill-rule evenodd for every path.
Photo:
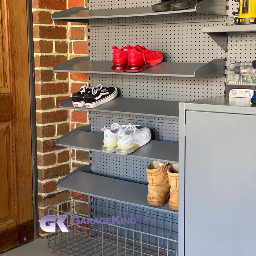
<instances>
[{"instance_id":1,"label":"grey end bracket at right end of the topmost shoe shelf","mask_svg":"<svg viewBox=\"0 0 256 256\"><path fill-rule=\"evenodd\" d=\"M204 0L196 4L196 12L226 16L227 2L226 0Z\"/></svg>"}]
</instances>

